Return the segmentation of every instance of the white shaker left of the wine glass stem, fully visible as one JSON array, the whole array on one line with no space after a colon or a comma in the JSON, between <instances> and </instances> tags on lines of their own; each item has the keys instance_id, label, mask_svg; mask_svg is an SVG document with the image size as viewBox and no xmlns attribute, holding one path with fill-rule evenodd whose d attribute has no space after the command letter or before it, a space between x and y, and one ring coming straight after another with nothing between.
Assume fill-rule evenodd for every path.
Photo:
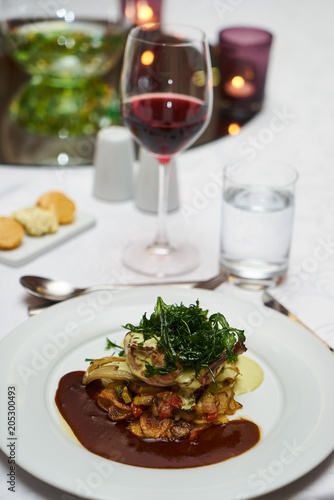
<instances>
[{"instance_id":1,"label":"white shaker left of the wine glass stem, fully visible","mask_svg":"<svg viewBox=\"0 0 334 500\"><path fill-rule=\"evenodd\" d=\"M133 196L134 143L125 127L107 127L99 131L95 147L94 195L109 201Z\"/></svg>"}]
</instances>

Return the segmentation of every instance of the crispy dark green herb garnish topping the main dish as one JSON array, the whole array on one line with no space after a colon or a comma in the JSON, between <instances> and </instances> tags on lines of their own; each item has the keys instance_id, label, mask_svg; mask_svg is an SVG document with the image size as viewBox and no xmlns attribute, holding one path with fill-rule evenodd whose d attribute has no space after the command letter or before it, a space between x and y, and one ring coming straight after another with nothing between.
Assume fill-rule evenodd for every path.
<instances>
[{"instance_id":1,"label":"crispy dark green herb garnish topping the main dish","mask_svg":"<svg viewBox=\"0 0 334 500\"><path fill-rule=\"evenodd\" d=\"M143 315L138 326L124 326L131 332L143 335L144 342L154 338L165 353L166 366L157 367L145 363L145 377L166 375L178 367L193 368L196 377L203 368L210 370L209 364L225 352L228 363L237 360L233 347L237 341L244 342L243 330L231 328L225 316L220 313L208 317L208 311L196 304L186 307L167 305L158 297L150 318ZM211 372L212 373L212 372Z\"/></svg>"}]
</instances>

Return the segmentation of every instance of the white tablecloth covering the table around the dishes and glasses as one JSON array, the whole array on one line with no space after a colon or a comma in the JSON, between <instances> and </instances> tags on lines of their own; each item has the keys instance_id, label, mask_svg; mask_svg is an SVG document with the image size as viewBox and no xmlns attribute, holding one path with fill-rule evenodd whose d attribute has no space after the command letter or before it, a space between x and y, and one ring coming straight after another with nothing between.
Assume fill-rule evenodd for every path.
<instances>
[{"instance_id":1,"label":"white tablecloth covering the table around the dishes and glasses","mask_svg":"<svg viewBox=\"0 0 334 500\"><path fill-rule=\"evenodd\" d=\"M275 36L261 113L238 136L192 149L177 160L180 209L169 215L169 233L182 233L201 255L201 265L184 279L206 279L218 272L222 166L236 160L288 162L300 175L294 237L287 280L273 294L334 346L334 4L331 0L167 0L166 4L168 20L187 19L188 24L201 26L212 43L219 29L238 24L263 27ZM155 217L137 210L133 200L112 203L94 197L93 182L94 170L89 166L0 166L1 215L33 204L45 191L61 190L97 220L94 228L26 265L0 264L0 338L27 320L27 306L35 301L20 287L22 275L65 279L78 286L147 281L125 269L121 256L131 238L153 237ZM229 284L216 293L260 300L256 293ZM0 471L0 496L12 498L6 484L7 458L2 453ZM333 497L332 453L303 478L262 498ZM15 498L53 500L66 495L19 469Z\"/></svg>"}]
</instances>

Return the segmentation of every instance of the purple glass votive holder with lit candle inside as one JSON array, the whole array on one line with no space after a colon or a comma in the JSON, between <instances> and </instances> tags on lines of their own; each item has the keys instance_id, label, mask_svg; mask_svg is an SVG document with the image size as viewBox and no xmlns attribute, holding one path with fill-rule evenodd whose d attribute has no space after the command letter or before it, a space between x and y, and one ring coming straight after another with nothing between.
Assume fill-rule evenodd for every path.
<instances>
[{"instance_id":1,"label":"purple glass votive holder with lit candle inside","mask_svg":"<svg viewBox=\"0 0 334 500\"><path fill-rule=\"evenodd\" d=\"M245 118L259 111L273 36L257 28L227 28L219 33L223 110Z\"/></svg>"}]
</instances>

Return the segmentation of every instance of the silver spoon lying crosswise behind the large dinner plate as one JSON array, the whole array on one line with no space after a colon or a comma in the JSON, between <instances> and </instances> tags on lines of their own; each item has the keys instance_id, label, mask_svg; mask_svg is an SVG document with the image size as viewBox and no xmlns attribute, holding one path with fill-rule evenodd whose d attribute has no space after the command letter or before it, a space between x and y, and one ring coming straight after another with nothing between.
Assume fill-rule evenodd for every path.
<instances>
[{"instance_id":1,"label":"silver spoon lying crosswise behind the large dinner plate","mask_svg":"<svg viewBox=\"0 0 334 500\"><path fill-rule=\"evenodd\" d=\"M135 286L156 286L156 285L179 285L184 287L196 287L196 288L206 288L208 290L213 290L221 283L226 281L227 276L222 273L214 276L207 281L176 281L167 283L136 283L136 284L119 284L119 285L93 285L87 288L75 288L70 283L66 281L51 280L48 278L42 278L40 276L22 276L20 278L20 283L25 288L25 290L34 295L45 300L51 300L52 302L61 302L63 300L71 299L82 295L84 293L95 292L98 290L119 290L126 288L133 288Z\"/></svg>"}]
</instances>

